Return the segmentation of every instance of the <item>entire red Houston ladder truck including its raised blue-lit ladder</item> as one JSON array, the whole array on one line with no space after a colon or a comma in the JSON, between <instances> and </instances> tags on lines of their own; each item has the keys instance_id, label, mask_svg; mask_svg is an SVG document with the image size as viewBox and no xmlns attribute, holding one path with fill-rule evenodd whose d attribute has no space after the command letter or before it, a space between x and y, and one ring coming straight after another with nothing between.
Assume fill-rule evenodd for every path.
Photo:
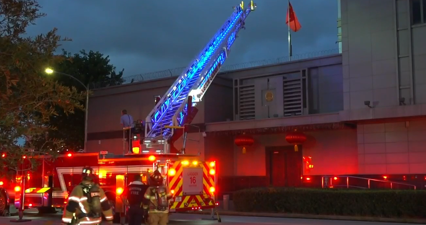
<instances>
[{"instance_id":1,"label":"entire red Houston ladder truck including its raised blue-lit ladder","mask_svg":"<svg viewBox=\"0 0 426 225\"><path fill-rule=\"evenodd\" d=\"M250 1L244 6L242 1L233 8L232 15L202 52L167 92L155 99L155 107L145 122L139 120L134 128L123 129L123 155L69 153L55 160L49 156L36 156L40 161L39 169L20 174L12 181L0 182L0 210L7 211L15 202L17 208L37 207L41 213L55 213L55 208L65 207L68 194L81 182L81 170L86 165L97 172L97 182L105 190L116 217L125 216L120 194L129 183L127 177L141 174L142 180L147 182L154 170L162 172L165 184L173 194L170 212L214 208L217 205L216 162L205 162L199 158L200 154L186 155L185 143L186 133L193 126L190 123L198 112L197 103L202 101L256 4ZM132 132L126 137L128 129ZM181 137L183 147L178 149L174 143ZM124 154L126 140L132 142L133 154Z\"/></svg>"}]
</instances>

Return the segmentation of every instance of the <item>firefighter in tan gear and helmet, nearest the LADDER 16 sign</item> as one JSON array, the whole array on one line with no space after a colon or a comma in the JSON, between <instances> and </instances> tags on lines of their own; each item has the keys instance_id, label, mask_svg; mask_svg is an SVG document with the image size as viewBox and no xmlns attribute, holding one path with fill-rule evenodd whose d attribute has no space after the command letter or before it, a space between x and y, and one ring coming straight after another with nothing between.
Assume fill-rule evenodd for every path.
<instances>
[{"instance_id":1,"label":"firefighter in tan gear and helmet, nearest the LADDER 16 sign","mask_svg":"<svg viewBox=\"0 0 426 225\"><path fill-rule=\"evenodd\" d=\"M148 209L148 224L166 225L169 222L168 200L172 198L172 194L170 189L163 184L160 171L156 170L152 174L144 197L149 200L147 205L144 205L144 208Z\"/></svg>"}]
</instances>

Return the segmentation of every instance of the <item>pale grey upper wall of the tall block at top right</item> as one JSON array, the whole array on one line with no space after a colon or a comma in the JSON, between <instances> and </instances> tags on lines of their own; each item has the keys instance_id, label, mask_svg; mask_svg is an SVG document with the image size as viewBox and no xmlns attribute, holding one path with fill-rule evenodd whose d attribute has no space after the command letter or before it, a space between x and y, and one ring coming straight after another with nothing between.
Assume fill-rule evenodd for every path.
<instances>
[{"instance_id":1,"label":"pale grey upper wall of the tall block at top right","mask_svg":"<svg viewBox=\"0 0 426 225\"><path fill-rule=\"evenodd\" d=\"M341 0L345 110L426 101L425 24L409 0Z\"/></svg>"}]
</instances>

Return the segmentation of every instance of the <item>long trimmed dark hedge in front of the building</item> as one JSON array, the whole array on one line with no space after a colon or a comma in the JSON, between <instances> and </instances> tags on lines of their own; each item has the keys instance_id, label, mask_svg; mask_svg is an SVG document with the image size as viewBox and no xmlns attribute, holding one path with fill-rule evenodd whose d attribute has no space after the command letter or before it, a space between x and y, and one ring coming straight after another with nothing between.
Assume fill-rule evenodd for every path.
<instances>
[{"instance_id":1,"label":"long trimmed dark hedge in front of the building","mask_svg":"<svg viewBox=\"0 0 426 225\"><path fill-rule=\"evenodd\" d=\"M252 188L233 202L240 212L426 218L424 190Z\"/></svg>"}]
</instances>

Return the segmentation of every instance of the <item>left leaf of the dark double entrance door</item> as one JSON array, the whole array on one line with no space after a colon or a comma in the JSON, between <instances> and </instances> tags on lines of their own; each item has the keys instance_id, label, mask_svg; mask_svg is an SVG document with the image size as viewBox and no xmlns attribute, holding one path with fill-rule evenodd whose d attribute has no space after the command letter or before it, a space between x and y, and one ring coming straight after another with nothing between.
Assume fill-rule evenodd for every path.
<instances>
[{"instance_id":1,"label":"left leaf of the dark double entrance door","mask_svg":"<svg viewBox=\"0 0 426 225\"><path fill-rule=\"evenodd\" d=\"M284 187L286 182L287 168L284 151L269 151L270 157L270 184L275 187Z\"/></svg>"}]
</instances>

